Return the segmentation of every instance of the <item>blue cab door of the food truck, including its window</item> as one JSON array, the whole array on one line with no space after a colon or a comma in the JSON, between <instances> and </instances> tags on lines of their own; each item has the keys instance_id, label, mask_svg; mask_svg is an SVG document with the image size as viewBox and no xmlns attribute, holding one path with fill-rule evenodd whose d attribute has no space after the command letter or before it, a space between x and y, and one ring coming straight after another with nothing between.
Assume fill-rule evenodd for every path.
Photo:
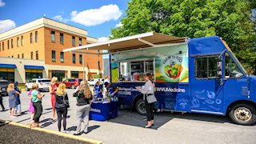
<instances>
[{"instance_id":1,"label":"blue cab door of the food truck, including its window","mask_svg":"<svg viewBox=\"0 0 256 144\"><path fill-rule=\"evenodd\" d=\"M219 55L190 58L191 112L223 114L223 85L218 78Z\"/></svg>"}]
</instances>

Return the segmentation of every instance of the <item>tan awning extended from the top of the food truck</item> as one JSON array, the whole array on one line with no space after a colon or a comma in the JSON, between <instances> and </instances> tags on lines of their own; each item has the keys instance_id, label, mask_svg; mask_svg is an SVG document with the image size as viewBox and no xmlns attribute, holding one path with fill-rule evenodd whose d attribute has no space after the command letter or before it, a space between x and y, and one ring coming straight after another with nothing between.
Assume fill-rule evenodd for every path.
<instances>
[{"instance_id":1,"label":"tan awning extended from the top of the food truck","mask_svg":"<svg viewBox=\"0 0 256 144\"><path fill-rule=\"evenodd\" d=\"M106 42L98 42L89 44L86 46L78 46L63 50L75 51L75 50L108 50L109 52L116 52L122 50L132 50L143 47L157 46L162 44L180 43L185 42L186 38L174 37L166 34L159 34L154 32L136 34L124 38L117 38Z\"/></svg>"}]
</instances>

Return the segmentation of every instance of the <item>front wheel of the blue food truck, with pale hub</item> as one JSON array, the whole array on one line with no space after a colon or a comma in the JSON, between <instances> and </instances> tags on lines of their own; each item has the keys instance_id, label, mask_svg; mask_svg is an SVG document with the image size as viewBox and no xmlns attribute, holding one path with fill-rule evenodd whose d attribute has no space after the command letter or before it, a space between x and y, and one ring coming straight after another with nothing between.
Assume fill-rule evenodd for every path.
<instances>
[{"instance_id":1,"label":"front wheel of the blue food truck, with pale hub","mask_svg":"<svg viewBox=\"0 0 256 144\"><path fill-rule=\"evenodd\" d=\"M237 104L231 107L230 119L239 125L252 125L256 122L256 110L250 104Z\"/></svg>"}]
</instances>

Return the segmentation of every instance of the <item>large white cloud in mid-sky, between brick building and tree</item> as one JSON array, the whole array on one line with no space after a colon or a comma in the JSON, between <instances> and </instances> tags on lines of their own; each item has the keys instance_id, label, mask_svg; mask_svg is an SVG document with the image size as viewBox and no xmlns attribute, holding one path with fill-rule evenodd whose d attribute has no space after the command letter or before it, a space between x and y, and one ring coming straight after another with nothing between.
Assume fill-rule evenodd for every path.
<instances>
[{"instance_id":1,"label":"large white cloud in mid-sky, between brick building and tree","mask_svg":"<svg viewBox=\"0 0 256 144\"><path fill-rule=\"evenodd\" d=\"M84 26L96 26L110 20L118 20L122 11L117 5L102 6L98 9L83 10L71 12L71 21L80 23Z\"/></svg>"}]
</instances>

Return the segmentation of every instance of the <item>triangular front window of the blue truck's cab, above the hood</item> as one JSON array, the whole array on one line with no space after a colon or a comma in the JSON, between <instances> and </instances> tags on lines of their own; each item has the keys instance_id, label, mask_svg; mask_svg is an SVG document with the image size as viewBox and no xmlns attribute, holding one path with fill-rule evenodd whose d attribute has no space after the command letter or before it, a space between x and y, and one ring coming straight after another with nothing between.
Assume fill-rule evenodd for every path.
<instances>
[{"instance_id":1,"label":"triangular front window of the blue truck's cab, above the hood","mask_svg":"<svg viewBox=\"0 0 256 144\"><path fill-rule=\"evenodd\" d=\"M225 78L241 78L244 76L230 54L226 53L225 56Z\"/></svg>"}]
</instances>

